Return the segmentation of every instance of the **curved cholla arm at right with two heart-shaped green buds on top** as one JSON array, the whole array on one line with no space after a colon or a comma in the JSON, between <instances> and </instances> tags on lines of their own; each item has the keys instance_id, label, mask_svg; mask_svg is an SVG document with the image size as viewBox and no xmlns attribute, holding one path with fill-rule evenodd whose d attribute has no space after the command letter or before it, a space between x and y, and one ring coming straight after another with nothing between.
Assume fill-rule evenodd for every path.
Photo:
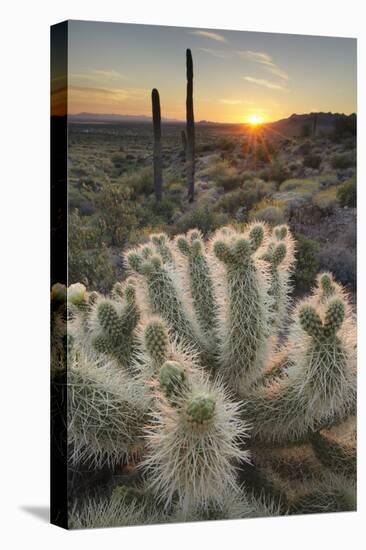
<instances>
[{"instance_id":1,"label":"curved cholla arm at right with two heart-shaped green buds on top","mask_svg":"<svg viewBox=\"0 0 366 550\"><path fill-rule=\"evenodd\" d=\"M352 414L356 399L355 328L340 298L305 301L294 314L287 367L247 397L253 437L286 442Z\"/></svg>"}]
</instances>

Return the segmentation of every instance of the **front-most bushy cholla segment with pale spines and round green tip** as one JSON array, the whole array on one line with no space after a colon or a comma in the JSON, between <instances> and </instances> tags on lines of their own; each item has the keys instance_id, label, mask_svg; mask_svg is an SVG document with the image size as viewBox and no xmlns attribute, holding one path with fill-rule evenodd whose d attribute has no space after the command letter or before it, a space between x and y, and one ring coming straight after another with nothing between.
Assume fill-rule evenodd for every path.
<instances>
[{"instance_id":1,"label":"front-most bushy cholla segment with pale spines and round green tip","mask_svg":"<svg viewBox=\"0 0 366 550\"><path fill-rule=\"evenodd\" d=\"M248 460L240 448L248 429L222 387L193 376L173 405L158 397L152 414L142 466L158 501L169 507L176 500L187 513L220 505L225 491L238 492L236 467Z\"/></svg>"}]
</instances>

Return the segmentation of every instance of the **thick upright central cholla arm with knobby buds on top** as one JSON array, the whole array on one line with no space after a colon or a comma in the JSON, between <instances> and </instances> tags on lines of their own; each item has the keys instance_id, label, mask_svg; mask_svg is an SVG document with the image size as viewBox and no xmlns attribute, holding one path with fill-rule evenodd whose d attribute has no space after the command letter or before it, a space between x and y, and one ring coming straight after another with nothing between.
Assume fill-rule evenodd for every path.
<instances>
[{"instance_id":1,"label":"thick upright central cholla arm with knobby buds on top","mask_svg":"<svg viewBox=\"0 0 366 550\"><path fill-rule=\"evenodd\" d=\"M241 236L214 239L213 252L225 266L220 289L221 373L230 387L248 389L262 373L269 346L268 271Z\"/></svg>"}]
</instances>

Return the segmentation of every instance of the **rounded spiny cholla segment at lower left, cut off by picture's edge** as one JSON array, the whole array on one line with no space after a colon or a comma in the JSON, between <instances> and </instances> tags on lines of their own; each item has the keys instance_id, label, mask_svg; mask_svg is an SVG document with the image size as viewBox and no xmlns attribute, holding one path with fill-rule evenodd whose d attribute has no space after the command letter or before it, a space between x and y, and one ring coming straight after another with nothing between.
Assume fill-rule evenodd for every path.
<instances>
[{"instance_id":1,"label":"rounded spiny cholla segment at lower left, cut off by picture's edge","mask_svg":"<svg viewBox=\"0 0 366 550\"><path fill-rule=\"evenodd\" d=\"M150 397L118 367L74 354L67 372L71 463L113 466L143 445Z\"/></svg>"}]
</instances>

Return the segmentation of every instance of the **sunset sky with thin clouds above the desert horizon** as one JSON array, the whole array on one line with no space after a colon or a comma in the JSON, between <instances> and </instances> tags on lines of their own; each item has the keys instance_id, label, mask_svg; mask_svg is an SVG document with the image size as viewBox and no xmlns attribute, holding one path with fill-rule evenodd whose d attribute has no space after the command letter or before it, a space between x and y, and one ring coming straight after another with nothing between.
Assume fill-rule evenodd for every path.
<instances>
[{"instance_id":1,"label":"sunset sky with thin clouds above the desert horizon","mask_svg":"<svg viewBox=\"0 0 366 550\"><path fill-rule=\"evenodd\" d=\"M196 120L265 121L356 111L356 40L217 29L69 22L69 112L185 117L185 50Z\"/></svg>"}]
</instances>

